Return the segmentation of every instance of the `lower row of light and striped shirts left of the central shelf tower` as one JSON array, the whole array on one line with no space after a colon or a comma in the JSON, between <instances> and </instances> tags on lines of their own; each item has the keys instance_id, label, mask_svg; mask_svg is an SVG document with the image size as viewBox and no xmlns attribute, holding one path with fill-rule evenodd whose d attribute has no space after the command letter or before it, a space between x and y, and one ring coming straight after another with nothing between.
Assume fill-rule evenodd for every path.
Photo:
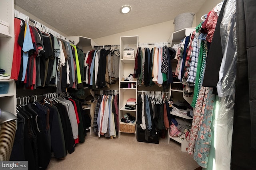
<instances>
[{"instance_id":1,"label":"lower row of light and striped shirts left of the central shelf tower","mask_svg":"<svg viewBox=\"0 0 256 170\"><path fill-rule=\"evenodd\" d=\"M116 137L119 129L118 94L100 94L96 97L93 128L94 133L100 137Z\"/></svg>"}]
</instances>

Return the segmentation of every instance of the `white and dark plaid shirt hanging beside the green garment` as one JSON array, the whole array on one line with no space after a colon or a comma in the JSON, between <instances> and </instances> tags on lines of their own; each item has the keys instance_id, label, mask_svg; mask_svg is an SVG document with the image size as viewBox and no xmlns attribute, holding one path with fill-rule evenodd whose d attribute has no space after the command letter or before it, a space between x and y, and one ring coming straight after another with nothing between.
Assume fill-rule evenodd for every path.
<instances>
[{"instance_id":1,"label":"white and dark plaid shirt hanging beside the green garment","mask_svg":"<svg viewBox=\"0 0 256 170\"><path fill-rule=\"evenodd\" d=\"M198 63L198 55L200 51L200 39L198 39L198 33L195 34L194 43L192 48L192 55L191 55L191 63L189 66L189 73L188 73L188 85L195 85L196 82L196 68Z\"/></svg>"}]
</instances>

